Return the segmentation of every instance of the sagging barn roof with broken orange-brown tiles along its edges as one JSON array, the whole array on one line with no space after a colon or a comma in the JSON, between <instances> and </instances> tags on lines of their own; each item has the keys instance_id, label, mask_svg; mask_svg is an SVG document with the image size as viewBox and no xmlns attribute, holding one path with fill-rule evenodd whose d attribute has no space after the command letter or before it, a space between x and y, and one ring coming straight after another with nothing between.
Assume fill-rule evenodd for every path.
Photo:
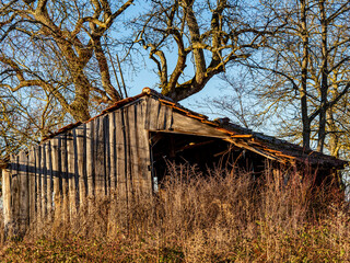
<instances>
[{"instance_id":1,"label":"sagging barn roof with broken orange-brown tiles along its edges","mask_svg":"<svg viewBox=\"0 0 350 263\"><path fill-rule=\"evenodd\" d=\"M116 102L114 105L107 107L100 115L89 119L88 122L106 113L127 106L143 96L151 96L155 100L159 100L162 104L172 107L174 112L177 112L189 118L197 119L203 125L209 125L214 129L222 132L222 134L226 135L226 137L230 138L229 141L233 142L235 146L254 151L272 160L277 160L280 162L304 162L313 165L325 165L334 168L343 168L348 163L348 161L343 161L331 156L327 156L313 150L305 150L303 147L288 142L287 140L267 136L261 133L255 133L252 129L230 123L229 118L209 121L206 115L185 108L180 104L173 102L171 99L158 93L150 88L144 88L141 94ZM65 126L44 140L70 130L79 126L80 124L81 123L79 122ZM210 136L210 134L208 134L208 136Z\"/></svg>"}]
</instances>

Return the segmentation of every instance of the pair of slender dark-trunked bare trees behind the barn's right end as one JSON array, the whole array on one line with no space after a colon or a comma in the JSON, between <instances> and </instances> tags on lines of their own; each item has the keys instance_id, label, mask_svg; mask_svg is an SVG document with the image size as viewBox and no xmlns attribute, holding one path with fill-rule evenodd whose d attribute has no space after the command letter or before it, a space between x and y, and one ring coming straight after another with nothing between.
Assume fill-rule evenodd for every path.
<instances>
[{"instance_id":1,"label":"pair of slender dark-trunked bare trees behind the barn's right end","mask_svg":"<svg viewBox=\"0 0 350 263\"><path fill-rule=\"evenodd\" d=\"M350 89L350 3L332 0L260 2L266 12L288 23L269 38L259 56L245 64L265 76L264 85L259 83L260 99L270 102L265 108L289 108L296 115L284 119L284 127L291 132L288 135L302 137L305 149L310 149L315 139L318 151L323 151L325 145L332 148L326 135L338 133L335 125L341 119L335 119L335 111L340 110ZM291 124L295 119L302 125L301 133L298 127L298 130L288 128L295 128Z\"/></svg>"}]
</instances>

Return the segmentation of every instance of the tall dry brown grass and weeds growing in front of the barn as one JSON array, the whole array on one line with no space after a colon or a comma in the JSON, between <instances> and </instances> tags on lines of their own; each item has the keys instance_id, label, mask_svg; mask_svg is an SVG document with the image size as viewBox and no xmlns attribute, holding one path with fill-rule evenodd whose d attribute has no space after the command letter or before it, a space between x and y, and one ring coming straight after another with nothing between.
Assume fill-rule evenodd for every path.
<instances>
[{"instance_id":1,"label":"tall dry brown grass and weeds growing in front of the barn","mask_svg":"<svg viewBox=\"0 0 350 263\"><path fill-rule=\"evenodd\" d=\"M116 198L94 201L71 225L42 224L23 240L5 242L0 260L350 261L347 204L313 182L292 174L285 185L268 171L265 181L230 171L202 178L195 168L172 167L151 201L140 197L128 209Z\"/></svg>"}]
</instances>

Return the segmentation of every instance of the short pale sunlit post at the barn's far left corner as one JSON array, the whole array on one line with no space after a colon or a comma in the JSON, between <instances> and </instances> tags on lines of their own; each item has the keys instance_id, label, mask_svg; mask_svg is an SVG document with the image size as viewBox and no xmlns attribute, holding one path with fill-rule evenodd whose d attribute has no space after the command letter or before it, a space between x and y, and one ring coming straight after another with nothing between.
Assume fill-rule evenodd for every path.
<instances>
[{"instance_id":1,"label":"short pale sunlit post at the barn's far left corner","mask_svg":"<svg viewBox=\"0 0 350 263\"><path fill-rule=\"evenodd\" d=\"M10 164L11 168L11 164ZM3 227L4 227L4 238L11 237L13 235L13 214L12 214L12 174L10 168L2 169L2 205L3 205Z\"/></svg>"}]
</instances>

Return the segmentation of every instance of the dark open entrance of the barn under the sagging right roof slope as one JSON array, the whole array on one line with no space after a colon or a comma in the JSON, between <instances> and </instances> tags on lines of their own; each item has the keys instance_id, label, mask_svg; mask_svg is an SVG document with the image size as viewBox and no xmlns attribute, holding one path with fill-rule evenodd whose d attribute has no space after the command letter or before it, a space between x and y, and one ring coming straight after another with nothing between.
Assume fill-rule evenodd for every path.
<instances>
[{"instance_id":1,"label":"dark open entrance of the barn under the sagging right roof slope","mask_svg":"<svg viewBox=\"0 0 350 263\"><path fill-rule=\"evenodd\" d=\"M162 185L163 179L171 173L170 164L196 167L203 176L214 169L234 169L258 178L265 170L264 157L222 138L152 132L150 139L155 185Z\"/></svg>"}]
</instances>

